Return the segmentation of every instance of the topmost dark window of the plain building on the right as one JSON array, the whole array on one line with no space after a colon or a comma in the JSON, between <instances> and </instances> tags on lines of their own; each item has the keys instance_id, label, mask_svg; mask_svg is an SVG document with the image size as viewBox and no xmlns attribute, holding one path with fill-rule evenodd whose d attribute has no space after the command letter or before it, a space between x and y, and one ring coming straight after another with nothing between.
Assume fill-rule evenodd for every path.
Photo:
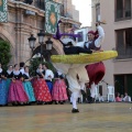
<instances>
[{"instance_id":1,"label":"topmost dark window of the plain building on the right","mask_svg":"<svg viewBox=\"0 0 132 132\"><path fill-rule=\"evenodd\" d=\"M116 0L116 21L131 19L131 1Z\"/></svg>"}]
</instances>

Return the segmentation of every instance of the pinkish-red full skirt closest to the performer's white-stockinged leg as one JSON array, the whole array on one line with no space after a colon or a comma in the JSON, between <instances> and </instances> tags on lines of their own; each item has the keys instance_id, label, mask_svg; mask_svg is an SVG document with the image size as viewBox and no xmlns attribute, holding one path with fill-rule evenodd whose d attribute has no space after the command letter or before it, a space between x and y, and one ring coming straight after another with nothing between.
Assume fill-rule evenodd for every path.
<instances>
[{"instance_id":1,"label":"pinkish-red full skirt closest to the performer's white-stockinged leg","mask_svg":"<svg viewBox=\"0 0 132 132\"><path fill-rule=\"evenodd\" d=\"M63 79L57 79L53 86L52 99L55 101L67 100L66 84Z\"/></svg>"}]
</instances>

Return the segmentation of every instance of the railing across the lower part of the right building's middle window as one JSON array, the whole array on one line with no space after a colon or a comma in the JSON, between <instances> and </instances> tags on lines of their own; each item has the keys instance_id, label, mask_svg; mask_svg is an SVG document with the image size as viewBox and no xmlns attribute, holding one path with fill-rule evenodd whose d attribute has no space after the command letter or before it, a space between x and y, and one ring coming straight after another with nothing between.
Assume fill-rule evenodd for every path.
<instances>
[{"instance_id":1,"label":"railing across the lower part of the right building's middle window","mask_svg":"<svg viewBox=\"0 0 132 132\"><path fill-rule=\"evenodd\" d=\"M128 47L117 47L118 51L118 57L117 59L127 59L132 58L132 46Z\"/></svg>"}]
</instances>

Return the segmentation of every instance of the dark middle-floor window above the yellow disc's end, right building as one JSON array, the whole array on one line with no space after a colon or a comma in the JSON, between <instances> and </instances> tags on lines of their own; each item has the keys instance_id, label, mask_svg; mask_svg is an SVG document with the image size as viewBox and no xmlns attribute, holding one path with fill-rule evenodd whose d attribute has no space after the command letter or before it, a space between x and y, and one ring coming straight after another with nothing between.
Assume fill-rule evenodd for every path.
<instances>
[{"instance_id":1,"label":"dark middle-floor window above the yellow disc's end, right building","mask_svg":"<svg viewBox=\"0 0 132 132\"><path fill-rule=\"evenodd\" d=\"M132 28L116 32L118 58L132 58Z\"/></svg>"}]
</instances>

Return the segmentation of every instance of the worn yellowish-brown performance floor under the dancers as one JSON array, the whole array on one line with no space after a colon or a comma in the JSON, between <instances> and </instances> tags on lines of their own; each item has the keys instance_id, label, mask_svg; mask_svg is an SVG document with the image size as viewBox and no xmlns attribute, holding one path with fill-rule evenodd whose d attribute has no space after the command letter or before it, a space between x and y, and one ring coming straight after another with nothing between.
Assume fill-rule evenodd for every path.
<instances>
[{"instance_id":1,"label":"worn yellowish-brown performance floor under the dancers","mask_svg":"<svg viewBox=\"0 0 132 132\"><path fill-rule=\"evenodd\" d=\"M0 107L0 132L132 132L132 103Z\"/></svg>"}]
</instances>

